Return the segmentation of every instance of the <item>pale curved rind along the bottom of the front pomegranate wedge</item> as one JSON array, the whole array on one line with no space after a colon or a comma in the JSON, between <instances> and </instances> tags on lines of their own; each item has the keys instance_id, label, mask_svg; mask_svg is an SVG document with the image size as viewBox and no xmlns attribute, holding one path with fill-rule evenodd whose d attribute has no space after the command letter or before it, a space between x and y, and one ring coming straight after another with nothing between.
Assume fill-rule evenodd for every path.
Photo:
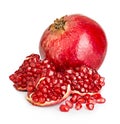
<instances>
[{"instance_id":1,"label":"pale curved rind along the bottom of the front pomegranate wedge","mask_svg":"<svg viewBox=\"0 0 120 124\"><path fill-rule=\"evenodd\" d=\"M28 94L27 95L27 97L26 97L26 99L31 103L31 104L33 104L33 105L36 105L36 106L51 106L51 105L55 105L55 104L59 104L59 103L61 103L62 101L64 101L65 99L67 99L69 96L70 96L70 94L71 94L71 87L70 87L70 85L68 84L68 86L67 86L67 91L66 91L66 93L65 93L65 95L61 98L61 99L57 99L56 101L46 101L45 103L40 103L40 102L34 102L33 101L33 99L32 99L32 94L33 94L34 92L32 92L32 93L30 93L30 94Z\"/></svg>"}]
</instances>

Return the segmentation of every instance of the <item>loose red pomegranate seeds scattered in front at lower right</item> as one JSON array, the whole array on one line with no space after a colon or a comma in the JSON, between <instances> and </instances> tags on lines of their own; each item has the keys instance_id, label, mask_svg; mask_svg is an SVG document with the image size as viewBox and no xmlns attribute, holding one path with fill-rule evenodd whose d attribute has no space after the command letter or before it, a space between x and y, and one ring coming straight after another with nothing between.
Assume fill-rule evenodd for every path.
<instances>
[{"instance_id":1,"label":"loose red pomegranate seeds scattered in front at lower right","mask_svg":"<svg viewBox=\"0 0 120 124\"><path fill-rule=\"evenodd\" d=\"M100 93L89 93L89 94L72 94L69 100L65 101L65 104L61 104L59 109L62 112L68 112L71 108L80 110L83 105L88 110L93 110L96 103L105 103L105 98Z\"/></svg>"}]
</instances>

